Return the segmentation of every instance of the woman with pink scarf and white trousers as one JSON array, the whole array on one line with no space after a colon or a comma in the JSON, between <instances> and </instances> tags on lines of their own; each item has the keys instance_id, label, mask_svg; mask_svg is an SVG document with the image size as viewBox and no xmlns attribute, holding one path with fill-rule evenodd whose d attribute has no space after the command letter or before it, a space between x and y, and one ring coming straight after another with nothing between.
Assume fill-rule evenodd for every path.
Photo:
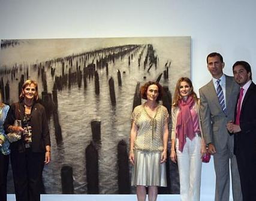
<instances>
[{"instance_id":1,"label":"woman with pink scarf and white trousers","mask_svg":"<svg viewBox=\"0 0 256 201\"><path fill-rule=\"evenodd\" d=\"M200 200L201 156L206 144L201 132L199 103L191 80L177 81L171 110L171 160L178 163L180 198L183 201Z\"/></svg>"}]
</instances>

